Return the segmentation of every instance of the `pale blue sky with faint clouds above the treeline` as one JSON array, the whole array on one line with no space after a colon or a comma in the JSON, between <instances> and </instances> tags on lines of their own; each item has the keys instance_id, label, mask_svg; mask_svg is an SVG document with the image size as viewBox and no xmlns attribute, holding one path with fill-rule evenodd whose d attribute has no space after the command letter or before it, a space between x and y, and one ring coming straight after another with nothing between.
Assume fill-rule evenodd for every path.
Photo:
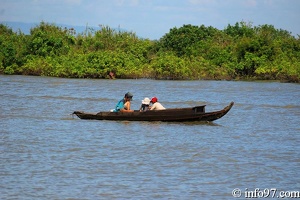
<instances>
[{"instance_id":1,"label":"pale blue sky with faint clouds above the treeline","mask_svg":"<svg viewBox=\"0 0 300 200\"><path fill-rule=\"evenodd\" d=\"M237 22L300 35L300 0L0 0L0 22L99 25L160 39L185 24L223 30Z\"/></svg>"}]
</instances>

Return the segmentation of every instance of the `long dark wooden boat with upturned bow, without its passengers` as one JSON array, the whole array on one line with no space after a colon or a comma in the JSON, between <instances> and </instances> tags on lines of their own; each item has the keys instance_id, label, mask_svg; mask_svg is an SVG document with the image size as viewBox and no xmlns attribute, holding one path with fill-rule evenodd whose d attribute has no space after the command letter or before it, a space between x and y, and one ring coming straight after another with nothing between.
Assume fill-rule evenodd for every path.
<instances>
[{"instance_id":1,"label":"long dark wooden boat with upturned bow, without its passengers","mask_svg":"<svg viewBox=\"0 0 300 200\"><path fill-rule=\"evenodd\" d=\"M220 119L232 108L231 102L224 109L214 112L205 112L205 105L191 108L170 108L166 110L148 110L140 112L99 112L87 113L82 111L75 111L73 114L80 119L90 120L124 120L124 121L170 121L170 122L184 122L184 121L214 121Z\"/></svg>"}]
</instances>

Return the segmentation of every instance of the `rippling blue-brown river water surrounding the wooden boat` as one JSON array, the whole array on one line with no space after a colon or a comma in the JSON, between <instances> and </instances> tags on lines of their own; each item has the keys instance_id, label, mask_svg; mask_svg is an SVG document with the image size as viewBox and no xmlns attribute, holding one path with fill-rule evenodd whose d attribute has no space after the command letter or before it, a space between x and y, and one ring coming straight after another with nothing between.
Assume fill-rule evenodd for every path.
<instances>
[{"instance_id":1,"label":"rippling blue-brown river water surrounding the wooden boat","mask_svg":"<svg viewBox=\"0 0 300 200\"><path fill-rule=\"evenodd\" d=\"M214 123L80 120L133 93ZM0 76L0 199L231 199L299 191L300 85ZM262 193L259 193L262 194Z\"/></svg>"}]
</instances>

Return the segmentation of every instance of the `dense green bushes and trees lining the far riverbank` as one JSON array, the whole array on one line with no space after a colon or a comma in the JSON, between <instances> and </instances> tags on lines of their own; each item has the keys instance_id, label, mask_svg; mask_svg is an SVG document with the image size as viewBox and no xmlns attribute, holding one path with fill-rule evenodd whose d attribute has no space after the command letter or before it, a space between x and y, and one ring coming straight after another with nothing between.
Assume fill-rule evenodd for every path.
<instances>
[{"instance_id":1,"label":"dense green bushes and trees lining the far riverbank","mask_svg":"<svg viewBox=\"0 0 300 200\"><path fill-rule=\"evenodd\" d=\"M300 38L272 25L183 25L159 40L101 26L41 22L29 35L0 24L0 74L73 78L253 79L300 82Z\"/></svg>"}]
</instances>

